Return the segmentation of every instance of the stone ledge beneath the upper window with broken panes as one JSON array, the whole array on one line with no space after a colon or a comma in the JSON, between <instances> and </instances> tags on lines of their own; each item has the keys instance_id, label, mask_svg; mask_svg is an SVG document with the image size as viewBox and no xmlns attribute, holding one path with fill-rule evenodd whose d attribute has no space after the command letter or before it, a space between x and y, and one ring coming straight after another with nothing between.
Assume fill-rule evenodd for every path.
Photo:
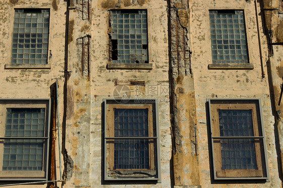
<instances>
[{"instance_id":1,"label":"stone ledge beneath the upper window with broken panes","mask_svg":"<svg viewBox=\"0 0 283 188\"><path fill-rule=\"evenodd\" d=\"M152 63L108 63L107 69L143 69L151 70Z\"/></svg>"}]
</instances>

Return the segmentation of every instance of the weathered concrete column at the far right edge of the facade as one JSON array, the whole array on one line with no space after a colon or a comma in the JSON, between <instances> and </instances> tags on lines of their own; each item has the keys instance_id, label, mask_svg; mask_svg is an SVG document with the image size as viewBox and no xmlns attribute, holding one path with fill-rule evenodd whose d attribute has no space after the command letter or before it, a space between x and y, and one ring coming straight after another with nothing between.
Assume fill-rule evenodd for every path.
<instances>
[{"instance_id":1,"label":"weathered concrete column at the far right edge of the facade","mask_svg":"<svg viewBox=\"0 0 283 188\"><path fill-rule=\"evenodd\" d=\"M261 12L263 13L265 34L268 41L268 81L270 85L270 97L272 100L272 110L275 116L275 137L278 153L278 163L280 166L280 177L283 172L283 2L262 0ZM280 97L281 96L281 97Z\"/></svg>"}]
</instances>

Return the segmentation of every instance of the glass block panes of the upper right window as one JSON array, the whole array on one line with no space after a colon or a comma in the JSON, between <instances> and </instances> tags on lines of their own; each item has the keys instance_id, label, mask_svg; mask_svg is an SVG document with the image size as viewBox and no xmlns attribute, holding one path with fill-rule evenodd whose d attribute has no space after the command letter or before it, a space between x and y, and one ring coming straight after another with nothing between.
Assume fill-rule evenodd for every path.
<instances>
[{"instance_id":1,"label":"glass block panes of the upper right window","mask_svg":"<svg viewBox=\"0 0 283 188\"><path fill-rule=\"evenodd\" d=\"M209 11L213 63L248 63L243 11Z\"/></svg>"}]
</instances>

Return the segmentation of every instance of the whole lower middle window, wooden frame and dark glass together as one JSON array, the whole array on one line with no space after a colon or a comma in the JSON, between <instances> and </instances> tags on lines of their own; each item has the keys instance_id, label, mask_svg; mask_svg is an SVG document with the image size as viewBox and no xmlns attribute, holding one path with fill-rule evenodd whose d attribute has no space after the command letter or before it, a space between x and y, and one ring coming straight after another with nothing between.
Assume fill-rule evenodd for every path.
<instances>
[{"instance_id":1,"label":"whole lower middle window, wooden frame and dark glass together","mask_svg":"<svg viewBox=\"0 0 283 188\"><path fill-rule=\"evenodd\" d=\"M105 179L158 180L160 154L155 100L104 101Z\"/></svg>"}]
</instances>

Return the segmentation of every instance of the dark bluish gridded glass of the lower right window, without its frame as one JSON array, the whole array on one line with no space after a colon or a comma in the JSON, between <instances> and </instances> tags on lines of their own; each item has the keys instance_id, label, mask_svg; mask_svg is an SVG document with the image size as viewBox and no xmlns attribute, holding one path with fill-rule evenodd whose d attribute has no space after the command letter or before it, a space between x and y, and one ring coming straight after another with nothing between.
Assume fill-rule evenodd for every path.
<instances>
[{"instance_id":1,"label":"dark bluish gridded glass of the lower right window, without its frame","mask_svg":"<svg viewBox=\"0 0 283 188\"><path fill-rule=\"evenodd\" d=\"M251 110L219 110L220 136L254 136ZM222 139L222 169L256 169L254 139Z\"/></svg>"}]
</instances>

